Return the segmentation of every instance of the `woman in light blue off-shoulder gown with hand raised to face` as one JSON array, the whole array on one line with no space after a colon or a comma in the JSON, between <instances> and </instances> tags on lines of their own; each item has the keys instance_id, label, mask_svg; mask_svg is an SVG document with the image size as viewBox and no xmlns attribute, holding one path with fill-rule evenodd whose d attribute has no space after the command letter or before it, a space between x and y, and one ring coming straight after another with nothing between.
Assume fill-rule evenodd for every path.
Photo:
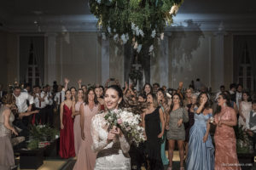
<instances>
[{"instance_id":1,"label":"woman in light blue off-shoulder gown with hand raised to face","mask_svg":"<svg viewBox=\"0 0 256 170\"><path fill-rule=\"evenodd\" d=\"M207 93L199 94L198 108L195 108L195 123L189 132L189 152L186 166L188 170L213 170L214 147L209 134L212 117L211 101Z\"/></svg>"}]
</instances>

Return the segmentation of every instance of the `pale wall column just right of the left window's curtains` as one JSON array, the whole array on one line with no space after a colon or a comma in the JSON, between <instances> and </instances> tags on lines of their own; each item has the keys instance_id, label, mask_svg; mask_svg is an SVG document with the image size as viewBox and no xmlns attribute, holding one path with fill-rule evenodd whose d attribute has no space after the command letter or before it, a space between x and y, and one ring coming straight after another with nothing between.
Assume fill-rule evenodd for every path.
<instances>
[{"instance_id":1,"label":"pale wall column just right of the left window's curtains","mask_svg":"<svg viewBox=\"0 0 256 170\"><path fill-rule=\"evenodd\" d=\"M48 50L47 50L47 80L46 83L52 84L56 80L56 33L47 33Z\"/></svg>"}]
</instances>

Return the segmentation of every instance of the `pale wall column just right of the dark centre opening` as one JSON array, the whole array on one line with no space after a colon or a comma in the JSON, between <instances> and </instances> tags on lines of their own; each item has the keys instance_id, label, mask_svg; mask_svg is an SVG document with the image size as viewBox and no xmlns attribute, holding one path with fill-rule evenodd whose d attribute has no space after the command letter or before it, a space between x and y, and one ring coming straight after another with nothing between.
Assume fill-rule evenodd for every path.
<instances>
[{"instance_id":1,"label":"pale wall column just right of the dark centre opening","mask_svg":"<svg viewBox=\"0 0 256 170\"><path fill-rule=\"evenodd\" d=\"M167 33L166 33L167 34ZM160 86L169 86L169 35L160 44Z\"/></svg>"}]
</instances>

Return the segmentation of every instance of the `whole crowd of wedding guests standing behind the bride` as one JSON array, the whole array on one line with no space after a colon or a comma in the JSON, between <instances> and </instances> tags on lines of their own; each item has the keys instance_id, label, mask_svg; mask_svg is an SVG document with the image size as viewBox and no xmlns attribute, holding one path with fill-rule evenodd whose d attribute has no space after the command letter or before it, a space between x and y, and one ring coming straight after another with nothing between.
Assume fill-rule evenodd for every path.
<instances>
[{"instance_id":1,"label":"whole crowd of wedding guests standing behind the bride","mask_svg":"<svg viewBox=\"0 0 256 170\"><path fill-rule=\"evenodd\" d=\"M240 169L233 128L237 125L252 140L255 151L256 101L241 84L230 84L230 90L220 86L213 95L200 79L192 81L188 88L183 87L183 82L177 88L145 83L141 91L127 82L122 88L116 79L108 79L105 86L90 87L79 80L77 88L69 87L67 78L64 82L63 86L54 82L52 89L49 85L25 84L22 89L15 87L11 94L0 86L1 169L15 166L11 133L28 137L31 124L60 128L61 158L77 156L73 169L94 169L97 155L91 150L91 119L108 110L104 97L112 84L123 89L125 107L143 105L137 114L141 115L146 141L139 146L131 144L131 169L144 166L161 170L167 166L172 170L176 143L181 170L224 169L224 165ZM212 127L214 135L210 133Z\"/></svg>"}]
</instances>

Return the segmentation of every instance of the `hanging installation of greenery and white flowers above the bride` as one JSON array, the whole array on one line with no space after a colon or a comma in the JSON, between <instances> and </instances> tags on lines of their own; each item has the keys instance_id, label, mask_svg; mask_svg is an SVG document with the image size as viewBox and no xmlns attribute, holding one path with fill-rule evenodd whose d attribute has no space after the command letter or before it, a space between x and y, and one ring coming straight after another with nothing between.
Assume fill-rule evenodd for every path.
<instances>
[{"instance_id":1,"label":"hanging installation of greenery and white flowers above the bride","mask_svg":"<svg viewBox=\"0 0 256 170\"><path fill-rule=\"evenodd\" d=\"M102 38L131 42L139 54L154 53L155 42L163 40L165 26L172 24L183 0L89 0L90 12L98 19Z\"/></svg>"}]
</instances>

